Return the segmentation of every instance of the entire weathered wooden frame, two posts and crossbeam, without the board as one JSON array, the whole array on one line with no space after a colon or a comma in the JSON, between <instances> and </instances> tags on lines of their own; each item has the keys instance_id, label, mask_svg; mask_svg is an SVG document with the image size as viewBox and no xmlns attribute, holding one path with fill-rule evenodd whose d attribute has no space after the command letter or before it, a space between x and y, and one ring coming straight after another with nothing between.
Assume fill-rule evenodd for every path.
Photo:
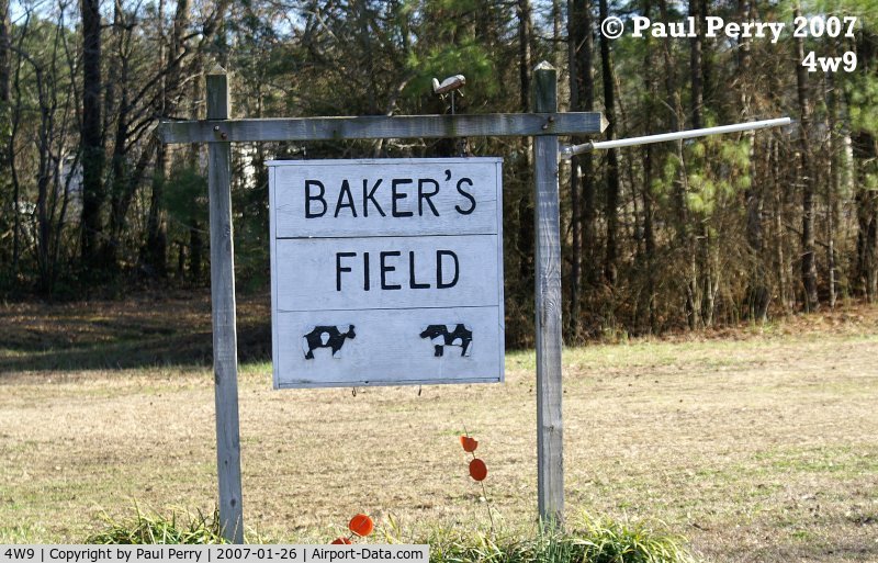
<instances>
[{"instance_id":1,"label":"entire weathered wooden frame, two posts and crossbeam, without the board","mask_svg":"<svg viewBox=\"0 0 878 563\"><path fill-rule=\"evenodd\" d=\"M564 473L558 136L597 134L606 128L607 122L600 113L558 113L555 69L542 63L534 75L534 113L528 114L229 120L227 78L225 71L217 68L207 76L207 120L160 124L159 131L165 143L209 143L210 147L211 301L219 523L223 536L229 541L244 541L230 214L229 143L233 142L536 137L538 505L545 523L558 526L562 522Z\"/></svg>"}]
</instances>

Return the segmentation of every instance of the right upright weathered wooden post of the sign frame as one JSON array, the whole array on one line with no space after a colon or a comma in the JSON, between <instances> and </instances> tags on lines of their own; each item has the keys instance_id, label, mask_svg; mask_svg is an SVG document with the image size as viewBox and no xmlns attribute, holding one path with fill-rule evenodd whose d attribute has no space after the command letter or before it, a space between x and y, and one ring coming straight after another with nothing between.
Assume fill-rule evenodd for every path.
<instances>
[{"instance_id":1,"label":"right upright weathered wooden post of the sign frame","mask_svg":"<svg viewBox=\"0 0 878 563\"><path fill-rule=\"evenodd\" d=\"M534 71L534 108L558 108L558 76L548 63ZM560 526L564 516L564 425L561 380L561 241L558 137L537 137L534 151L537 309L537 491L540 518Z\"/></svg>"}]
</instances>

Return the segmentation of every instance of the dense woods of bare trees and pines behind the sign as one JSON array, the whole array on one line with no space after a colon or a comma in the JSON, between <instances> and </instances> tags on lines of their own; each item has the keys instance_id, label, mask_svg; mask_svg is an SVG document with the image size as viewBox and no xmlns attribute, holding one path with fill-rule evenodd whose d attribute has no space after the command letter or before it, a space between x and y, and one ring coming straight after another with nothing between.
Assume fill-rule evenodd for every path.
<instances>
[{"instance_id":1,"label":"dense woods of bare trees and pines behind the sign","mask_svg":"<svg viewBox=\"0 0 878 563\"><path fill-rule=\"evenodd\" d=\"M559 69L566 111L605 138L789 115L785 128L575 157L561 167L569 342L762 322L878 299L876 0L0 0L0 296L113 297L209 283L206 149L159 143L232 74L233 117L527 112ZM608 15L628 21L610 41ZM694 37L631 36L630 18ZM830 16L843 21L835 30ZM708 37L703 19L784 22L779 41ZM795 37L793 19L817 22ZM822 22L822 25L821 25ZM819 33L818 33L819 32ZM856 69L802 63L853 53ZM845 59L849 61L849 59ZM586 139L574 138L574 143ZM504 157L507 344L532 345L527 138ZM239 291L269 281L275 158L451 156L455 139L233 146Z\"/></svg>"}]
</instances>

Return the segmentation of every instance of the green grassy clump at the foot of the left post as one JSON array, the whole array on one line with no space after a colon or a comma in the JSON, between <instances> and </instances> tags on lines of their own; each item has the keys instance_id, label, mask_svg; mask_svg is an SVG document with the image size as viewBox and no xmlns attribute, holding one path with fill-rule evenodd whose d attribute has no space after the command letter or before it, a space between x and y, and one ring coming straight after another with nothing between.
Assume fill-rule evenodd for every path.
<instances>
[{"instance_id":1,"label":"green grassy clump at the foot of the left post","mask_svg":"<svg viewBox=\"0 0 878 563\"><path fill-rule=\"evenodd\" d=\"M146 514L135 505L135 515L113 519L106 514L101 520L106 529L89 536L85 543L95 544L206 544L226 543L219 530L219 514L196 514L171 509L170 515Z\"/></svg>"}]
</instances>

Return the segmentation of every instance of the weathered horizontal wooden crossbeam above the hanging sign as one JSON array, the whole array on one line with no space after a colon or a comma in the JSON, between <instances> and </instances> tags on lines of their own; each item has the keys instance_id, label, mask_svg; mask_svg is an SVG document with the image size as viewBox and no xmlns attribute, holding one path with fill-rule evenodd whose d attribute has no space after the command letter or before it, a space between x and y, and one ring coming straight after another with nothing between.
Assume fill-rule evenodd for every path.
<instances>
[{"instance_id":1,"label":"weathered horizontal wooden crossbeam above the hanging sign","mask_svg":"<svg viewBox=\"0 0 878 563\"><path fill-rule=\"evenodd\" d=\"M159 135L170 144L588 135L606 127L599 112L494 113L162 122Z\"/></svg>"}]
</instances>

